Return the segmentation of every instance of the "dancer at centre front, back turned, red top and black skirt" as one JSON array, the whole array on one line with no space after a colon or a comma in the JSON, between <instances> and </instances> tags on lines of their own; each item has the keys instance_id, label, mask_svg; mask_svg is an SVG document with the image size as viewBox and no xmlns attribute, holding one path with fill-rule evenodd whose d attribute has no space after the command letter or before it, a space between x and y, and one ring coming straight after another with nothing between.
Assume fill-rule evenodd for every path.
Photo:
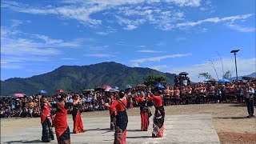
<instances>
[{"instance_id":1,"label":"dancer at centre front, back turned, red top and black skirt","mask_svg":"<svg viewBox=\"0 0 256 144\"><path fill-rule=\"evenodd\" d=\"M119 91L118 100L114 101L110 106L108 104L103 104L104 106L113 109L116 108L118 113L116 115L117 123L115 126L114 133L114 144L126 144L126 127L128 124L128 116L126 114L127 101L124 98L125 91Z\"/></svg>"}]
</instances>

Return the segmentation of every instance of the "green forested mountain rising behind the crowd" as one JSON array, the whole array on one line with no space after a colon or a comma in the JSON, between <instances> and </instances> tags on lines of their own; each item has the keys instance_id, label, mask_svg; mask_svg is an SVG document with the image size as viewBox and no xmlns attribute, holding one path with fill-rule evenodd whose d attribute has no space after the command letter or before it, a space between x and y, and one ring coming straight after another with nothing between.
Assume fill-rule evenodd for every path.
<instances>
[{"instance_id":1,"label":"green forested mountain rising behind the crowd","mask_svg":"<svg viewBox=\"0 0 256 144\"><path fill-rule=\"evenodd\" d=\"M116 62L102 62L90 66L61 66L50 73L31 78L10 78L1 81L1 95L36 94L38 90L47 90L49 94L54 94L58 89L78 92L81 88L94 89L95 86L103 84L123 89L128 84L136 86L142 83L143 78L150 74L164 76L169 85L174 84L176 76L150 68L132 68Z\"/></svg>"}]
</instances>

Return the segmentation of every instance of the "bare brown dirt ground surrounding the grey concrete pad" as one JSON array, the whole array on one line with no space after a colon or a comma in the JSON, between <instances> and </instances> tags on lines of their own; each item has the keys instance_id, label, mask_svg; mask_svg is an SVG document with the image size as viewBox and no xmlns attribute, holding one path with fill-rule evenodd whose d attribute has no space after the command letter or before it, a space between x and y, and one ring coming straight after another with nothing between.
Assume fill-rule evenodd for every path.
<instances>
[{"instance_id":1,"label":"bare brown dirt ground surrounding the grey concrete pad","mask_svg":"<svg viewBox=\"0 0 256 144\"><path fill-rule=\"evenodd\" d=\"M150 108L154 113L154 108ZM212 114L214 128L221 143L255 143L256 118L246 118L247 109L242 104L202 104L165 106L166 114ZM256 109L255 109L256 110ZM128 116L138 115L139 109L127 110ZM82 114L82 118L109 117L108 111L95 111ZM70 115L69 115L69 118ZM10 134L29 126L38 126L40 118L3 118L1 119L1 134Z\"/></svg>"}]
</instances>

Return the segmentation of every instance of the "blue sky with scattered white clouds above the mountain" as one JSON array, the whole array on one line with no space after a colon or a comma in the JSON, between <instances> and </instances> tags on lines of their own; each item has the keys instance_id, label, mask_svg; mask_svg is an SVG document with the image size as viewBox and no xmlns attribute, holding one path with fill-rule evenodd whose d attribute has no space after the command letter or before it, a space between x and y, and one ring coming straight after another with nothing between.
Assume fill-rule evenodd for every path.
<instances>
[{"instance_id":1,"label":"blue sky with scattered white clouds above the mountain","mask_svg":"<svg viewBox=\"0 0 256 144\"><path fill-rule=\"evenodd\" d=\"M254 0L2 1L1 79L120 62L214 78L255 72ZM218 53L217 53L218 52Z\"/></svg>"}]
</instances>

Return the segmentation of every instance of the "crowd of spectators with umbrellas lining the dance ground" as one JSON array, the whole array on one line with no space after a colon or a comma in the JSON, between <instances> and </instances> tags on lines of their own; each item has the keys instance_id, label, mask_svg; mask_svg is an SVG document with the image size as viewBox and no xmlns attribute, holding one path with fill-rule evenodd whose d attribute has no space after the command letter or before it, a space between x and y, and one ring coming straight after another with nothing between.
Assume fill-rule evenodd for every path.
<instances>
[{"instance_id":1,"label":"crowd of spectators with umbrellas lining the dance ground","mask_svg":"<svg viewBox=\"0 0 256 144\"><path fill-rule=\"evenodd\" d=\"M248 90L253 88L256 90L256 82L230 82L230 83L217 83L217 82L199 82L191 84L190 79L187 77L175 78L174 86L165 86L162 89L162 101L165 106L180 105L180 104L201 104L211 102L245 102ZM128 100L127 109L136 106L135 98L142 94L150 92L154 87L136 87L126 89L126 98ZM92 90L82 93L68 94L68 101L73 102L73 95L78 94L81 98L81 112L106 110L102 106L104 102L111 102L118 96L118 92L106 92L104 90ZM58 102L59 94L53 96L46 96L51 103ZM0 118L10 117L40 117L40 99L41 94L25 96L22 98L1 98L0 99ZM153 106L152 102L148 102L148 106ZM69 113L71 113L70 107ZM55 110L52 109L51 113L54 114Z\"/></svg>"}]
</instances>

